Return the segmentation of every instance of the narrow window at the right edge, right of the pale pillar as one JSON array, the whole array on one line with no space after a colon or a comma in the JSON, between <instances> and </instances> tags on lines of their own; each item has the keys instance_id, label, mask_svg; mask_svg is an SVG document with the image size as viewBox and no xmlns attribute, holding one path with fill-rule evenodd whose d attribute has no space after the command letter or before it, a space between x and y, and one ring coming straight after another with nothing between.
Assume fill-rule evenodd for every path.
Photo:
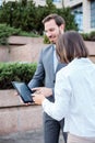
<instances>
[{"instance_id":1,"label":"narrow window at the right edge, right of the pale pillar","mask_svg":"<svg viewBox=\"0 0 95 143\"><path fill-rule=\"evenodd\" d=\"M95 0L91 1L91 28L95 28Z\"/></svg>"}]
</instances>

